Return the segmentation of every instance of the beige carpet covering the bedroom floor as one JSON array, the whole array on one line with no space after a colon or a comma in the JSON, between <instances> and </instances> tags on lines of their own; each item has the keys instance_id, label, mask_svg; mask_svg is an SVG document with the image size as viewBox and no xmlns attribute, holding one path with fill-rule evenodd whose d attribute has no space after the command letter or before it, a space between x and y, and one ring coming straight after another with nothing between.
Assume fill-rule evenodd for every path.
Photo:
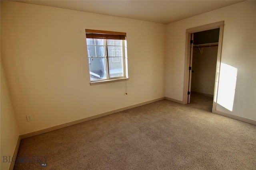
<instances>
[{"instance_id":1,"label":"beige carpet covering the bedroom floor","mask_svg":"<svg viewBox=\"0 0 256 170\"><path fill-rule=\"evenodd\" d=\"M255 170L256 126L199 103L162 100L23 139L14 169Z\"/></svg>"}]
</instances>

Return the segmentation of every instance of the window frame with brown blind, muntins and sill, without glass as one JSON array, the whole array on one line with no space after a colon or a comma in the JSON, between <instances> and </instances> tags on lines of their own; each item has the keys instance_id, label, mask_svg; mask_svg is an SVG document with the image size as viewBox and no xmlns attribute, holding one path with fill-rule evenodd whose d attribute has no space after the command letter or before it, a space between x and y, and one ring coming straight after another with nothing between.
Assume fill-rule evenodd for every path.
<instances>
[{"instance_id":1,"label":"window frame with brown blind, muntins and sill, without glass","mask_svg":"<svg viewBox=\"0 0 256 170\"><path fill-rule=\"evenodd\" d=\"M86 29L86 40L87 39L103 39L104 40L104 51L105 51L105 56L104 56L104 61L106 65L106 78L105 79L98 79L98 80L91 80L90 77L90 84L98 84L98 83L105 83L105 82L112 82L112 81L117 81L117 80L126 80L128 79L128 66L127 66L127 41L126 41L126 33L122 32L113 32L113 31L100 31L100 30L92 30L92 29ZM121 40L122 42L122 72L123 76L118 76L118 77L110 77L110 58L114 59L114 57L109 57L108 56L108 40L114 39L114 40ZM88 45L86 41L86 47L87 47L87 56L88 56ZM91 46L96 46L96 42L94 41L94 45ZM116 45L110 45L113 47L116 47ZM117 45L118 46L118 45ZM90 65L91 62L89 62L89 59L91 61L91 58L93 59L94 57L88 56L88 64ZM95 58L100 58L100 57L95 57ZM103 57L102 57L103 58ZM89 68L89 72L91 72Z\"/></svg>"}]
</instances>

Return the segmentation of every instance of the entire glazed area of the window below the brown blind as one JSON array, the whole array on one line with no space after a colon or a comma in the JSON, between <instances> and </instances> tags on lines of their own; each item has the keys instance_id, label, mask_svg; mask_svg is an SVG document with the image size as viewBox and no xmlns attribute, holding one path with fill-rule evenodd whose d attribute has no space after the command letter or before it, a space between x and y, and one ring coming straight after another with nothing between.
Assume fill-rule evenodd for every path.
<instances>
[{"instance_id":1,"label":"entire glazed area of the window below the brown blind","mask_svg":"<svg viewBox=\"0 0 256 170\"><path fill-rule=\"evenodd\" d=\"M122 41L124 41L125 47L122 47ZM91 81L128 75L127 64L124 64L124 62L127 63L127 58L123 58L126 56L125 54L123 56L123 52L127 53L125 40L88 38L86 43ZM108 59L106 58L106 50L108 51ZM106 63L107 61L108 63ZM109 77L107 72L109 72Z\"/></svg>"}]
</instances>

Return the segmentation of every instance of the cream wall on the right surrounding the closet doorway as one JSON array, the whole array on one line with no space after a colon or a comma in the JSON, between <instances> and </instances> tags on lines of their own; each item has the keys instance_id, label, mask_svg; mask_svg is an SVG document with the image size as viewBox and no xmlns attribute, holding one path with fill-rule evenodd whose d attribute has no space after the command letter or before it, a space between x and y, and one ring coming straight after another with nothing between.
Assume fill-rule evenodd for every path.
<instances>
[{"instance_id":1,"label":"cream wall on the right surrounding the closet doorway","mask_svg":"<svg viewBox=\"0 0 256 170\"><path fill-rule=\"evenodd\" d=\"M165 96L183 100L186 29L223 20L220 72L224 74L223 66L228 64L237 69L237 80L232 111L220 104L216 110L256 120L256 1L241 2L167 25ZM220 86L233 85L220 82Z\"/></svg>"}]
</instances>

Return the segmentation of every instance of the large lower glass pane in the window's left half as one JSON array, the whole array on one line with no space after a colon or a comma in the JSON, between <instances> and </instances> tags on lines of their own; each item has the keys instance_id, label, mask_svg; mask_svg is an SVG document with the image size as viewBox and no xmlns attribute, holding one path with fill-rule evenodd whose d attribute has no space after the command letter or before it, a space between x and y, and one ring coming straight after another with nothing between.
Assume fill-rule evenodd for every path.
<instances>
[{"instance_id":1,"label":"large lower glass pane in the window's left half","mask_svg":"<svg viewBox=\"0 0 256 170\"><path fill-rule=\"evenodd\" d=\"M90 80L102 80L107 78L105 58L90 58Z\"/></svg>"}]
</instances>

